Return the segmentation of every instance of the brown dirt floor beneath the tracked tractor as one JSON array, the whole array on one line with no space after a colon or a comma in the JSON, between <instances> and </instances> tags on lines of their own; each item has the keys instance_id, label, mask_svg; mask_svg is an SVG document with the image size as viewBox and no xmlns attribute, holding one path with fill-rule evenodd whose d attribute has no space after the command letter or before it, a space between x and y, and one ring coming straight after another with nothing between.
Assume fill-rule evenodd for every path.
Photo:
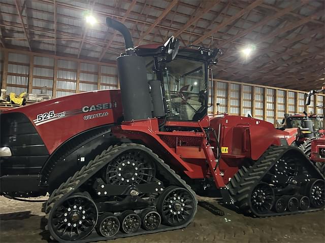
<instances>
[{"instance_id":1,"label":"brown dirt floor beneath the tracked tractor","mask_svg":"<svg viewBox=\"0 0 325 243\"><path fill-rule=\"evenodd\" d=\"M110 242L324 242L325 211L282 217L250 218L199 197L199 210L185 229ZM47 242L42 203L0 197L0 242ZM224 215L222 215L224 213ZM100 241L105 242L105 241Z\"/></svg>"}]
</instances>

